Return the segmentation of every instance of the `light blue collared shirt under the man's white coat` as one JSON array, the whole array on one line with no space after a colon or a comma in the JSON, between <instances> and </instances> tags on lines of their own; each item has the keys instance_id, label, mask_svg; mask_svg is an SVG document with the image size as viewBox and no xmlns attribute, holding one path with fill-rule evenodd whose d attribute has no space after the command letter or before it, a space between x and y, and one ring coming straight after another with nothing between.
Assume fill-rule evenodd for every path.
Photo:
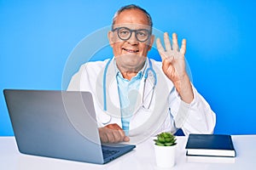
<instances>
[{"instance_id":1,"label":"light blue collared shirt under the man's white coat","mask_svg":"<svg viewBox=\"0 0 256 170\"><path fill-rule=\"evenodd\" d=\"M135 111L137 94L139 93L140 82L143 78L143 72L146 68L147 60L143 69L137 73L136 77L132 77L131 81L125 79L115 62L114 64L117 71L116 80L119 90L122 129L125 131L125 135L128 135L131 116Z\"/></svg>"}]
</instances>

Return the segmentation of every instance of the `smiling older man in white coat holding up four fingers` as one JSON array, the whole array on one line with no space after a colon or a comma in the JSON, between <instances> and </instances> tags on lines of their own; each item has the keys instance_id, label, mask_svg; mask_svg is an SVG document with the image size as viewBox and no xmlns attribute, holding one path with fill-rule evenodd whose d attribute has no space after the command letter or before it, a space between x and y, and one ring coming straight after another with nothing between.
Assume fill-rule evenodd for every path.
<instances>
[{"instance_id":1,"label":"smiling older man in white coat holding up four fingers","mask_svg":"<svg viewBox=\"0 0 256 170\"><path fill-rule=\"evenodd\" d=\"M137 5L113 16L108 40L113 58L82 65L67 90L90 91L102 142L129 141L163 131L212 133L215 114L189 80L185 69L186 40L164 33L165 48L156 44L162 61L148 59L154 43L153 22ZM84 49L86 50L86 49Z\"/></svg>"}]
</instances>

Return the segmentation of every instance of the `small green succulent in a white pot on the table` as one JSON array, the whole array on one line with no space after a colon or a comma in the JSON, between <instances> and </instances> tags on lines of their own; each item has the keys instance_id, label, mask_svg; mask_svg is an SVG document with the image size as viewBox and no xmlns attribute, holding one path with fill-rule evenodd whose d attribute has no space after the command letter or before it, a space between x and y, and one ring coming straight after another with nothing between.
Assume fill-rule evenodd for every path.
<instances>
[{"instance_id":1,"label":"small green succulent in a white pot on the table","mask_svg":"<svg viewBox=\"0 0 256 170\"><path fill-rule=\"evenodd\" d=\"M176 137L172 133L160 133L154 139L154 152L158 167L173 167L175 164Z\"/></svg>"}]
</instances>

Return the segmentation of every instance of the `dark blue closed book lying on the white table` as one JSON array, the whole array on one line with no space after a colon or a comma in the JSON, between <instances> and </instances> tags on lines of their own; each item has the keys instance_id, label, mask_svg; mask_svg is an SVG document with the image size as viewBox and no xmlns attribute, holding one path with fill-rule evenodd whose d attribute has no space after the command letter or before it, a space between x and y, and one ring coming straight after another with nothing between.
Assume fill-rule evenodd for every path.
<instances>
[{"instance_id":1,"label":"dark blue closed book lying on the white table","mask_svg":"<svg viewBox=\"0 0 256 170\"><path fill-rule=\"evenodd\" d=\"M227 134L189 134L186 150L187 156L236 156L232 138Z\"/></svg>"}]
</instances>

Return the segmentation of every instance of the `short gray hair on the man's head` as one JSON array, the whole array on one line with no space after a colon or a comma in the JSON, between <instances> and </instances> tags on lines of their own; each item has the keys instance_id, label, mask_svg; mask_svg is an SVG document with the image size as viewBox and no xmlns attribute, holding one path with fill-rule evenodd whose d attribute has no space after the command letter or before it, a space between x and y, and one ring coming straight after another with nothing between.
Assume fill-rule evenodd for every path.
<instances>
[{"instance_id":1,"label":"short gray hair on the man's head","mask_svg":"<svg viewBox=\"0 0 256 170\"><path fill-rule=\"evenodd\" d=\"M114 25L115 20L116 20L116 18L118 17L118 15L119 15L121 12L123 12L123 11L125 11L125 10L128 10L128 9L139 9L139 10L143 11L143 13L144 13L144 14L147 16L147 18L148 18L148 26L150 26L150 28L151 28L151 30L152 30L153 22L152 22L152 18L151 18L151 16L150 16L150 14L148 14L148 12L147 12L145 9L143 9L143 8L141 8L141 7L139 7L139 6L135 5L135 4L126 5L126 6L122 7L122 8L119 8L119 10L113 15L112 30L113 30L113 25Z\"/></svg>"}]
</instances>

